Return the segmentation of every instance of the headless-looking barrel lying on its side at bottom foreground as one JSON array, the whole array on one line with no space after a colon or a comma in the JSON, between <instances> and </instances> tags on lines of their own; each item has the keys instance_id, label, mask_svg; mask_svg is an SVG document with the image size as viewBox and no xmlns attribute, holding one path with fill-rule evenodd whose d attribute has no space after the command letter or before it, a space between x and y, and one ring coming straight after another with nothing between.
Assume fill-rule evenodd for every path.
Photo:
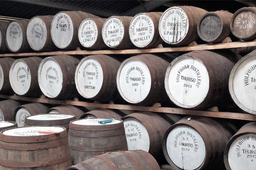
<instances>
[{"instance_id":1,"label":"headless-looking barrel lying on its side at bottom foreground","mask_svg":"<svg viewBox=\"0 0 256 170\"><path fill-rule=\"evenodd\" d=\"M119 151L93 157L67 170L160 170L157 161L143 150Z\"/></svg>"}]
</instances>

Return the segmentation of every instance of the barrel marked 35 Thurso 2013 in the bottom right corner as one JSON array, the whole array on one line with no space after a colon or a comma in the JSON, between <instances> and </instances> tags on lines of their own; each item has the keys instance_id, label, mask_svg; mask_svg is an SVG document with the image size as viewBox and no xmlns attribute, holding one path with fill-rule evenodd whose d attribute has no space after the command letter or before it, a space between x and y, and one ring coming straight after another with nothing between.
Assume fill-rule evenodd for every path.
<instances>
[{"instance_id":1,"label":"barrel marked 35 Thurso 2013 in the bottom right corner","mask_svg":"<svg viewBox=\"0 0 256 170\"><path fill-rule=\"evenodd\" d=\"M229 140L224 151L227 170L254 170L256 167L256 122L239 129Z\"/></svg>"}]
</instances>

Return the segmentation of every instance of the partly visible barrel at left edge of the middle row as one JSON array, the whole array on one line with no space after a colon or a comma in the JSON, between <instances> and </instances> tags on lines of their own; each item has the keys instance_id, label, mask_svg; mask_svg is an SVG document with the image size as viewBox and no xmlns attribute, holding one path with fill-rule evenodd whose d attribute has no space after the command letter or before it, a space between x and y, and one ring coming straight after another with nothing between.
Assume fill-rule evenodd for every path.
<instances>
[{"instance_id":1,"label":"partly visible barrel at left edge of the middle row","mask_svg":"<svg viewBox=\"0 0 256 170\"><path fill-rule=\"evenodd\" d=\"M0 59L0 94L14 94L9 81L9 72L14 60L9 57Z\"/></svg>"}]
</instances>

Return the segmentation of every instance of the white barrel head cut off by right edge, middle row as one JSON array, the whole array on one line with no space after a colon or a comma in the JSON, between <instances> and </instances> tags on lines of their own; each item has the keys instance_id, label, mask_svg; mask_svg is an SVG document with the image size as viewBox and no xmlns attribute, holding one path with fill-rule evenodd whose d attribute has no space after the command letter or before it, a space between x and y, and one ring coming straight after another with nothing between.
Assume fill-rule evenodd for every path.
<instances>
[{"instance_id":1,"label":"white barrel head cut off by right edge, middle row","mask_svg":"<svg viewBox=\"0 0 256 170\"><path fill-rule=\"evenodd\" d=\"M230 74L229 91L242 110L256 114L256 54L243 57Z\"/></svg>"}]
</instances>

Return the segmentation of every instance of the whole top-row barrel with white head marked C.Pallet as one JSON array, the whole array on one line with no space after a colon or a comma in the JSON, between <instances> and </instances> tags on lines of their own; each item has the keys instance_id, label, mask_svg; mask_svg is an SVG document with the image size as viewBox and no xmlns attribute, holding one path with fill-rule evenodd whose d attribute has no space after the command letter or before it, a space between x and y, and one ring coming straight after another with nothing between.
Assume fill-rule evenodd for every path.
<instances>
[{"instance_id":1,"label":"whole top-row barrel with white head marked C.Pallet","mask_svg":"<svg viewBox=\"0 0 256 170\"><path fill-rule=\"evenodd\" d=\"M106 19L87 18L79 26L78 38L82 48L101 50L107 48L102 39L102 27Z\"/></svg>"}]
</instances>

